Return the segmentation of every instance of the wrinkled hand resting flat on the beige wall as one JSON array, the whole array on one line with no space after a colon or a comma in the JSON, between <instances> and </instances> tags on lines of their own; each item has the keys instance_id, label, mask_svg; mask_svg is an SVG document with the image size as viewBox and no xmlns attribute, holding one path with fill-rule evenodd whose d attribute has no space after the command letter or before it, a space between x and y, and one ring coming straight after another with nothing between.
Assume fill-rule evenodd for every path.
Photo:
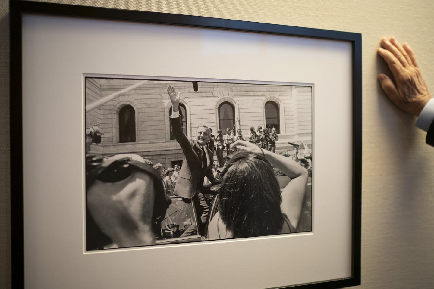
<instances>
[{"instance_id":1,"label":"wrinkled hand resting flat on the beige wall","mask_svg":"<svg viewBox=\"0 0 434 289\"><path fill-rule=\"evenodd\" d=\"M389 65L395 83L385 74L378 75L377 80L388 97L399 108L419 116L425 104L431 99L427 84L418 68L413 50L407 43L399 44L395 37L381 39L378 54Z\"/></svg>"}]
</instances>

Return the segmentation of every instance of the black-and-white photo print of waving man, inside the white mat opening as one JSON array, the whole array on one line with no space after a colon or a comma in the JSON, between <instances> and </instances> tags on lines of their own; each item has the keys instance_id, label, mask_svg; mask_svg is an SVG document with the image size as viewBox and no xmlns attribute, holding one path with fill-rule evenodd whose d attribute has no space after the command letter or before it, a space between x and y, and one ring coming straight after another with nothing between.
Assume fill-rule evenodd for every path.
<instances>
[{"instance_id":1,"label":"black-and-white photo print of waving man, inside the white mat opening","mask_svg":"<svg viewBox=\"0 0 434 289\"><path fill-rule=\"evenodd\" d=\"M206 126L209 130L208 135L204 136L207 138L204 146L209 149L206 166L200 162L194 163L194 156L184 152L180 137L177 138L175 128L169 121L173 107L168 87L180 95L178 111L182 131L178 134L191 139L195 148L202 141L197 129ZM239 231L235 236L258 237L311 231L312 84L302 86L86 76L85 89L86 175L92 179L86 180L86 214L89 214L86 216L86 250L227 239L229 235L226 235L225 224L217 224L221 217L219 209L225 205L224 200L231 202L227 209L228 216L224 219L225 223L232 224ZM227 159L238 152L237 140L254 143L262 149L261 153L265 150L289 158L289 166L305 168L305 175L302 176L304 185L297 186L293 182L288 186L298 172L293 172L294 168L289 167L291 175L287 175L287 172L273 165L268 174L252 164L251 168L243 168L252 170L245 179L238 176L240 172L225 177ZM119 158L126 158L125 162L113 164L107 170L100 169L105 162ZM135 172L118 172L118 175L111 172L122 170L118 166L125 166L128 158L139 159L153 166L160 176L159 181L163 183L164 194L171 200L168 205L166 198L161 198L160 203L154 201L154 210L158 207L168 207L168 210L160 217L161 220L152 222L151 230L146 228L141 231L143 236L147 236L145 238L123 230L122 236L114 233L124 227L137 230L141 226L131 217L134 205L126 210L117 210L118 201L125 201L119 197L125 194L125 190L130 189L137 194L137 188L131 189L135 178L128 179ZM200 173L199 180L194 182L200 182L198 186L203 186L203 189L198 186L196 190L187 188L183 183L191 182L195 169L200 169ZM94 170L99 175L93 175ZM177 182L178 178L181 178L181 182ZM263 191L269 189L270 179L273 178L276 196L267 196ZM114 185L124 180L123 188ZM212 182L216 185L212 186ZM232 187L231 184L237 185ZM223 192L218 192L222 185L230 195L239 193L239 198L232 200L229 196L221 197ZM287 186L286 192L291 198L285 195ZM108 194L113 188L115 191ZM187 191L196 195L197 190L202 193L201 198L184 195L189 193ZM112 198L118 201L111 205L103 201L108 195L110 201ZM253 197L256 195L258 199ZM292 198L292 195L296 198ZM276 218L275 211L285 211L288 205L294 208L286 209L285 218ZM108 209L108 206L113 207ZM250 212L249 208L252 207L255 209ZM234 208L240 208L240 211ZM263 211L261 218L237 221L246 214L256 216L257 211ZM128 218L131 221L129 226L112 219L121 218L119 214L124 218L131 217ZM149 214L152 214L152 210L149 210ZM214 217L216 219L213 221ZM235 220L229 222L229 218ZM101 231L99 227L102 227ZM126 235L132 236L127 238ZM233 237L232 232L230 237ZM114 242L113 239L118 241Z\"/></svg>"}]
</instances>

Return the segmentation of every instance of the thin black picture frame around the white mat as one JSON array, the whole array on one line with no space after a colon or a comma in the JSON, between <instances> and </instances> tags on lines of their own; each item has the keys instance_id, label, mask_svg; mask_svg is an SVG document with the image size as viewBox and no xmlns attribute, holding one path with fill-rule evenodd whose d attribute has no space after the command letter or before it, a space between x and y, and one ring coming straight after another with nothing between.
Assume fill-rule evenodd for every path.
<instances>
[{"instance_id":1,"label":"thin black picture frame around the white mat","mask_svg":"<svg viewBox=\"0 0 434 289\"><path fill-rule=\"evenodd\" d=\"M78 16L95 19L194 26L254 33L302 36L350 42L352 45L352 276L291 286L291 288L343 288L360 285L361 187L362 187L362 36L359 33L312 29L201 16L117 10L33 1L10 1L10 155L12 218L12 284L24 287L23 229L23 111L22 111L22 16L24 13Z\"/></svg>"}]
</instances>

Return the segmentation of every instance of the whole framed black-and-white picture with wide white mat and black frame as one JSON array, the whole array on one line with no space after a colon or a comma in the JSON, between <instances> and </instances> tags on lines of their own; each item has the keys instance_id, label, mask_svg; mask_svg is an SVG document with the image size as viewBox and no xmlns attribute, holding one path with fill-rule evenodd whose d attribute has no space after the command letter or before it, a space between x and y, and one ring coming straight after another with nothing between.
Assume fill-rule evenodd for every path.
<instances>
[{"instance_id":1,"label":"whole framed black-and-white picture with wide white mat and black frame","mask_svg":"<svg viewBox=\"0 0 434 289\"><path fill-rule=\"evenodd\" d=\"M15 284L360 284L360 34L13 1L11 45Z\"/></svg>"}]
</instances>

